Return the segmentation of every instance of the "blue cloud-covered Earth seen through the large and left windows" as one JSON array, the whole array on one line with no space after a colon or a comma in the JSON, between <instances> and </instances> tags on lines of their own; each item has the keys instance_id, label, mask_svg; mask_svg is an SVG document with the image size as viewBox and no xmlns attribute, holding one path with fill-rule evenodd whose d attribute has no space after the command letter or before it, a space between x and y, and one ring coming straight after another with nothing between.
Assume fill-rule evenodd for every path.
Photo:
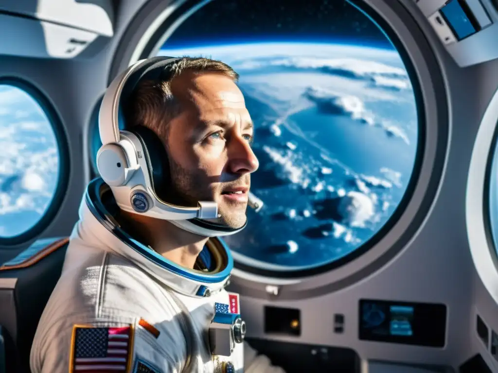
<instances>
[{"instance_id":1,"label":"blue cloud-covered Earth seen through the large and left windows","mask_svg":"<svg viewBox=\"0 0 498 373\"><path fill-rule=\"evenodd\" d=\"M240 74L259 170L248 226L225 241L236 260L288 271L333 262L386 224L410 180L418 120L395 50L314 43L161 49ZM28 230L58 181L59 154L41 107L0 85L0 237Z\"/></svg>"}]
</instances>

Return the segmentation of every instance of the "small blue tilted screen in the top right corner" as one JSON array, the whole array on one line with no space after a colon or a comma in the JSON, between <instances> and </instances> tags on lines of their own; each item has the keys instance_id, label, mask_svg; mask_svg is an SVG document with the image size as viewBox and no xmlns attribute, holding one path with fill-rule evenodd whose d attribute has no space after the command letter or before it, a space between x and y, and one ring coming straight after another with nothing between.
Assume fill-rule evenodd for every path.
<instances>
[{"instance_id":1,"label":"small blue tilted screen in the top right corner","mask_svg":"<svg viewBox=\"0 0 498 373\"><path fill-rule=\"evenodd\" d=\"M459 41L480 29L469 7L462 0L450 0L439 11Z\"/></svg>"}]
</instances>

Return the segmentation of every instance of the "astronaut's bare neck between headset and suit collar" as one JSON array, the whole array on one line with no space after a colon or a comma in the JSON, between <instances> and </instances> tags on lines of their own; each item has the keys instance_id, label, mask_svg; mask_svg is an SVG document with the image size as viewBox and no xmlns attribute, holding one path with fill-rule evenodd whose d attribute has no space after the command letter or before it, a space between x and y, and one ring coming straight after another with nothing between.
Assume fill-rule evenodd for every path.
<instances>
[{"instance_id":1,"label":"astronaut's bare neck between headset and suit collar","mask_svg":"<svg viewBox=\"0 0 498 373\"><path fill-rule=\"evenodd\" d=\"M140 232L140 236L156 253L171 262L189 269L194 268L198 255L208 237L187 232L169 221L121 212L126 226Z\"/></svg>"}]
</instances>

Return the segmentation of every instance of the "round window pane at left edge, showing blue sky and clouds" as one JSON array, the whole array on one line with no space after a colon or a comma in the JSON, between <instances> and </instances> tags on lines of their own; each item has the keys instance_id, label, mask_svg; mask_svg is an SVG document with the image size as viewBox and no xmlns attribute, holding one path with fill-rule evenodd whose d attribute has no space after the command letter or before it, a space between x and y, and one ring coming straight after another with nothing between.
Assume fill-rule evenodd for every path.
<instances>
[{"instance_id":1,"label":"round window pane at left edge, showing blue sky and clouds","mask_svg":"<svg viewBox=\"0 0 498 373\"><path fill-rule=\"evenodd\" d=\"M52 115L32 93L24 84L0 82L0 240L31 231L46 216L58 187Z\"/></svg>"}]
</instances>

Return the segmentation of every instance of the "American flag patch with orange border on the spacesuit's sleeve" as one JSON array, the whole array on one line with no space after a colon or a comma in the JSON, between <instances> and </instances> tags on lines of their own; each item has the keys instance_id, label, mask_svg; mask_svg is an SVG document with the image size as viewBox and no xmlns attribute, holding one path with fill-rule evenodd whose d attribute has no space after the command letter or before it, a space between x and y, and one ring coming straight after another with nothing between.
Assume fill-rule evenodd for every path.
<instances>
[{"instance_id":1,"label":"American flag patch with orange border on the spacesuit's sleeve","mask_svg":"<svg viewBox=\"0 0 498 373\"><path fill-rule=\"evenodd\" d=\"M75 326L71 372L116 373L128 367L132 329Z\"/></svg>"}]
</instances>

